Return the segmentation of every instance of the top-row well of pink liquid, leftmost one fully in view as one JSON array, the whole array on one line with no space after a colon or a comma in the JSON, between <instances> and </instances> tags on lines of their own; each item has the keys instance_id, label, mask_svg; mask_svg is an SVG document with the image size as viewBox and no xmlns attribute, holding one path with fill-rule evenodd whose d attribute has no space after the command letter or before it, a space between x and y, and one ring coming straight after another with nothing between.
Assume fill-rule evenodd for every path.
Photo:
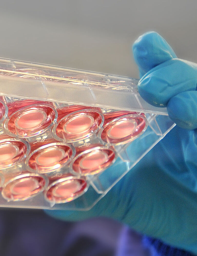
<instances>
[{"instance_id":1,"label":"top-row well of pink liquid, leftmost one fully in view","mask_svg":"<svg viewBox=\"0 0 197 256\"><path fill-rule=\"evenodd\" d=\"M9 103L8 109L9 120L4 126L20 138L38 135L56 121L56 110L49 102L21 100Z\"/></svg>"}]
</instances>

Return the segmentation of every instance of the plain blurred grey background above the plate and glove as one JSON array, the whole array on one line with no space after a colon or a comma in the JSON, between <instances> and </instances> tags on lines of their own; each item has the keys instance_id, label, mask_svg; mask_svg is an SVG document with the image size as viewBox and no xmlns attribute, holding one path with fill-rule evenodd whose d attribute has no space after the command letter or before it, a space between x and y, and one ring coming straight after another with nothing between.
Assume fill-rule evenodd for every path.
<instances>
[{"instance_id":1,"label":"plain blurred grey background above the plate and glove","mask_svg":"<svg viewBox=\"0 0 197 256\"><path fill-rule=\"evenodd\" d=\"M0 56L138 77L131 44L160 33L197 62L197 1L1 1Z\"/></svg>"}]
</instances>

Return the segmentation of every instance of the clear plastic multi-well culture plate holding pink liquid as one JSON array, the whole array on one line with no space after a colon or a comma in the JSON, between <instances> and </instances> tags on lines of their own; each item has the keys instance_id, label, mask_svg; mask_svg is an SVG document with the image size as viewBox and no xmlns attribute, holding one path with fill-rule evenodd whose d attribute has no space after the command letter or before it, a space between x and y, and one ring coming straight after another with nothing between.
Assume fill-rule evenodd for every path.
<instances>
[{"instance_id":1,"label":"clear plastic multi-well culture plate holding pink liquid","mask_svg":"<svg viewBox=\"0 0 197 256\"><path fill-rule=\"evenodd\" d=\"M137 82L1 58L0 206L98 202L175 125Z\"/></svg>"}]
</instances>

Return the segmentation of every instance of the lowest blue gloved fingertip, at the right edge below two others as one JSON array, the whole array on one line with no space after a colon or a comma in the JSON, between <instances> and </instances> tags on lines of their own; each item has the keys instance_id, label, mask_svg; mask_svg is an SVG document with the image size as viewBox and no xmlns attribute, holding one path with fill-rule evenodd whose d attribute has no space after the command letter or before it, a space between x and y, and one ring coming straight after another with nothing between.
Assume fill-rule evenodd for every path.
<instances>
[{"instance_id":1,"label":"lowest blue gloved fingertip, at the right edge below two others","mask_svg":"<svg viewBox=\"0 0 197 256\"><path fill-rule=\"evenodd\" d=\"M197 128L197 91L187 91L172 97L167 105L170 118L183 129Z\"/></svg>"}]
</instances>

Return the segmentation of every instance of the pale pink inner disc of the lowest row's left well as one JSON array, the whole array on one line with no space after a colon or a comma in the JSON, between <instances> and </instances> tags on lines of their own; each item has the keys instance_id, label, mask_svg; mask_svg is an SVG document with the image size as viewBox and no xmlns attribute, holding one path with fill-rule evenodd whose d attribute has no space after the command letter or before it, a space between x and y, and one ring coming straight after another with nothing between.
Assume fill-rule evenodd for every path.
<instances>
[{"instance_id":1,"label":"pale pink inner disc of the lowest row's left well","mask_svg":"<svg viewBox=\"0 0 197 256\"><path fill-rule=\"evenodd\" d=\"M15 195L25 195L31 193L38 187L37 179L32 177L16 180L11 188L11 192Z\"/></svg>"}]
</instances>

